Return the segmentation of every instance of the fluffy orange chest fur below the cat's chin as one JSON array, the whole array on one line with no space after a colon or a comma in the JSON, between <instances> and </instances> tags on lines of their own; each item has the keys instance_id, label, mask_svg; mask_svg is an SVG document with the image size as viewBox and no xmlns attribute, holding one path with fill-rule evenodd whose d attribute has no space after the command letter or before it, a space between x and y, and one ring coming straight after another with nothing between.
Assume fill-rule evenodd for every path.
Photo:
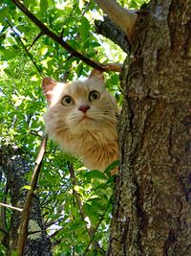
<instances>
[{"instance_id":1,"label":"fluffy orange chest fur below the cat's chin","mask_svg":"<svg viewBox=\"0 0 191 256\"><path fill-rule=\"evenodd\" d=\"M68 134L71 139L63 141L66 149L82 158L84 165L91 169L104 171L108 165L117 160L117 130L108 127L95 131L86 129L83 133Z\"/></svg>"}]
</instances>

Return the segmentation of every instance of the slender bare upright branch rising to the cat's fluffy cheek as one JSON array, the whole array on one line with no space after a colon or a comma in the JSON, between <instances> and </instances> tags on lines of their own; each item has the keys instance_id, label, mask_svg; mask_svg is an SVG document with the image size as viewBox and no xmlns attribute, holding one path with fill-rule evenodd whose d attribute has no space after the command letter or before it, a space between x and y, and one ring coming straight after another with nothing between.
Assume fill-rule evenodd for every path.
<instances>
[{"instance_id":1,"label":"slender bare upright branch rising to the cat's fluffy cheek","mask_svg":"<svg viewBox=\"0 0 191 256\"><path fill-rule=\"evenodd\" d=\"M33 198L34 190L36 188L38 175L40 173L42 160L43 160L43 157L45 154L47 138L48 138L48 136L45 135L41 141L40 149L38 151L38 155L35 160L34 170L33 170L33 174L32 174L32 180L31 180L31 184L30 184L31 189L28 191L28 195L27 195L26 202L25 202L25 205L23 208L23 212L22 212L22 217L21 217L21 222L20 222L20 227L19 227L18 243L17 243L19 256L24 255L25 244L27 242L27 236L28 236L28 225L29 225L30 212L31 212L31 207L32 207L32 198Z\"/></svg>"}]
</instances>

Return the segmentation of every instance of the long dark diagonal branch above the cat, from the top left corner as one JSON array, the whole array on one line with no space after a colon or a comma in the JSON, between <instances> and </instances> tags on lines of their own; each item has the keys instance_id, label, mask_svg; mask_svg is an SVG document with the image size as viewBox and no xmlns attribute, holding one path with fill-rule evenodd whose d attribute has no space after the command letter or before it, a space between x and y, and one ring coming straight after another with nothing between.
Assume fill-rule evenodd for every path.
<instances>
[{"instance_id":1,"label":"long dark diagonal branch above the cat, from the top left corner","mask_svg":"<svg viewBox=\"0 0 191 256\"><path fill-rule=\"evenodd\" d=\"M18 0L11 0L22 12L24 12L31 20L32 22L41 30L42 34L48 35L51 37L54 41L56 41L58 44L60 44L62 47L64 47L71 55L73 55L76 58L80 58L82 61L84 61L87 65L92 66L93 68L96 68L100 71L113 71L113 65L110 66L110 64L101 64L97 61L95 61L92 58L88 58L78 51L74 50L74 48L66 43L60 36L54 34L50 29L48 29L44 23L42 23L32 12L30 12L20 1ZM120 72L121 68L119 67L117 69L117 65L115 66L115 71Z\"/></svg>"}]
</instances>

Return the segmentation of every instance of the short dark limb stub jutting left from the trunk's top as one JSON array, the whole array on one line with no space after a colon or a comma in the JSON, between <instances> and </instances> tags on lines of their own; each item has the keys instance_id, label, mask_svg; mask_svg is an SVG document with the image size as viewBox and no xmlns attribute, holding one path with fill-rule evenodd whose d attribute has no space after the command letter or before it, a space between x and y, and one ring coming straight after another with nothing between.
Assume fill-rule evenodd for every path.
<instances>
[{"instance_id":1,"label":"short dark limb stub jutting left from the trunk's top","mask_svg":"<svg viewBox=\"0 0 191 256\"><path fill-rule=\"evenodd\" d=\"M107 16L103 17L104 20L96 20L96 33L111 39L116 43L125 53L130 51L130 43L127 35L122 31L114 22Z\"/></svg>"}]
</instances>

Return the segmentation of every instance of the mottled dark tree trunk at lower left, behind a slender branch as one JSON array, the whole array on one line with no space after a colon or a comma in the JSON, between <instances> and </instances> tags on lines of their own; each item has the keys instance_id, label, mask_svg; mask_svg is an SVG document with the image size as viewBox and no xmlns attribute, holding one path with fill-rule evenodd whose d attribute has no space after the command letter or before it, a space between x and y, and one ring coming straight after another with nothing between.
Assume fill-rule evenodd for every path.
<instances>
[{"instance_id":1,"label":"mottled dark tree trunk at lower left, behind a slender branch","mask_svg":"<svg viewBox=\"0 0 191 256\"><path fill-rule=\"evenodd\" d=\"M26 192L21 188L28 184L25 175L30 172L24 157L17 148L3 147L0 150L0 166L2 167L8 183L11 197L11 205L23 208ZM12 211L11 226L9 227L8 255L17 249L18 228L21 220L21 213ZM43 224L40 201L37 196L32 200L32 210L29 224L28 240L25 247L25 255L52 255L51 241L46 234L46 227Z\"/></svg>"}]
</instances>

